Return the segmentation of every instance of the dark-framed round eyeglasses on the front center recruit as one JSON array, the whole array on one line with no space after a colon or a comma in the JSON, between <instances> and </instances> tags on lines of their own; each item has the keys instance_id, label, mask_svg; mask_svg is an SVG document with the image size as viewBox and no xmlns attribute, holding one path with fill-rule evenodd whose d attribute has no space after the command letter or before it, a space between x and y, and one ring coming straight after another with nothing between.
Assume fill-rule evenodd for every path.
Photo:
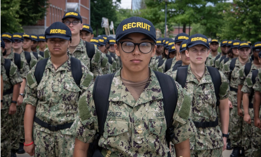
<instances>
[{"instance_id":1,"label":"dark-framed round eyeglasses on the front center recruit","mask_svg":"<svg viewBox=\"0 0 261 157\"><path fill-rule=\"evenodd\" d=\"M120 44L121 44L121 49L126 53L132 53L136 45L138 45L140 52L146 54L149 53L154 46L154 43L150 43L150 42L133 43L130 41L123 41L120 42Z\"/></svg>"}]
</instances>

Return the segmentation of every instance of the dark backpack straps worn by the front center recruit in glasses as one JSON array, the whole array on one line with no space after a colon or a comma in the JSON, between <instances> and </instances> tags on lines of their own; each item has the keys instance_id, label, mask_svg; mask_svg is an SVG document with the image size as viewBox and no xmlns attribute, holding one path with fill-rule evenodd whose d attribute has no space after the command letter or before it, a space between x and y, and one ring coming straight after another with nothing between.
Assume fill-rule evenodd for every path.
<instances>
[{"instance_id":1,"label":"dark backpack straps worn by the front center recruit in glasses","mask_svg":"<svg viewBox=\"0 0 261 157\"><path fill-rule=\"evenodd\" d=\"M163 103L164 103L164 112L165 118L167 122L167 130L166 130L166 140L167 143L174 138L173 127L171 127L173 122L173 114L176 108L177 100L178 100L178 90L174 80L163 73L154 71L161 89L163 93ZM107 118L107 112L109 108L109 95L111 90L111 83L113 80L114 74L107 74L103 76L97 76L94 83L93 88L93 100L95 102L95 108L98 117L98 127L99 132L96 133L94 142L90 145L93 147L89 149L88 156L95 156L93 153L99 152L98 142L100 136L103 135L104 132L104 124ZM175 96L173 96L175 95ZM169 154L170 155L170 154Z\"/></svg>"}]
</instances>

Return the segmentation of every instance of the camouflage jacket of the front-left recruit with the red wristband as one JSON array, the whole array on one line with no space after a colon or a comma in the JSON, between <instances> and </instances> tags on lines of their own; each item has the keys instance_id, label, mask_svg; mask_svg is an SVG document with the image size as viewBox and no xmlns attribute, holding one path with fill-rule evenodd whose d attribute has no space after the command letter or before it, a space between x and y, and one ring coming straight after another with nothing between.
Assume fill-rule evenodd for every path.
<instances>
[{"instance_id":1,"label":"camouflage jacket of the front-left recruit with the red wristband","mask_svg":"<svg viewBox=\"0 0 261 157\"><path fill-rule=\"evenodd\" d=\"M73 122L78 114L78 98L87 90L93 80L93 74L82 63L80 86L75 83L71 72L71 61L68 59L57 70L51 60L47 61L42 80L37 84L35 67L27 75L26 95L24 102L36 107L35 116L51 125ZM50 133L50 130L34 123L34 128ZM70 128L60 130L62 134L72 135Z\"/></svg>"}]
</instances>

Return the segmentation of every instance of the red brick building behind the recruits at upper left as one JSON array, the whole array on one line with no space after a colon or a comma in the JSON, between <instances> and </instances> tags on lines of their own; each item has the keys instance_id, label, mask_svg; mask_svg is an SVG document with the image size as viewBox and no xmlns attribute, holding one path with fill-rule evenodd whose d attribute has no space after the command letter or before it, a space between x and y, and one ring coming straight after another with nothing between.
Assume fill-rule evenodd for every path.
<instances>
[{"instance_id":1,"label":"red brick building behind the recruits at upper left","mask_svg":"<svg viewBox=\"0 0 261 157\"><path fill-rule=\"evenodd\" d=\"M24 32L28 34L44 34L45 29L54 22L62 22L66 11L78 11L81 14L82 22L91 23L90 0L49 0L44 19L41 19L33 26L23 26Z\"/></svg>"}]
</instances>

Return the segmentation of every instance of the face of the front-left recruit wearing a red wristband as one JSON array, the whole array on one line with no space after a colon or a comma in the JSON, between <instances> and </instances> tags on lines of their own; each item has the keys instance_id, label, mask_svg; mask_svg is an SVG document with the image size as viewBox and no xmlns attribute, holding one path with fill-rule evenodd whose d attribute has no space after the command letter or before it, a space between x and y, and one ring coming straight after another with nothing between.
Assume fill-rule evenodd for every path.
<instances>
[{"instance_id":1,"label":"face of the front-left recruit wearing a red wristband","mask_svg":"<svg viewBox=\"0 0 261 157\"><path fill-rule=\"evenodd\" d=\"M67 55L70 41L60 38L47 39L47 47L50 51L51 56L61 57Z\"/></svg>"}]
</instances>

